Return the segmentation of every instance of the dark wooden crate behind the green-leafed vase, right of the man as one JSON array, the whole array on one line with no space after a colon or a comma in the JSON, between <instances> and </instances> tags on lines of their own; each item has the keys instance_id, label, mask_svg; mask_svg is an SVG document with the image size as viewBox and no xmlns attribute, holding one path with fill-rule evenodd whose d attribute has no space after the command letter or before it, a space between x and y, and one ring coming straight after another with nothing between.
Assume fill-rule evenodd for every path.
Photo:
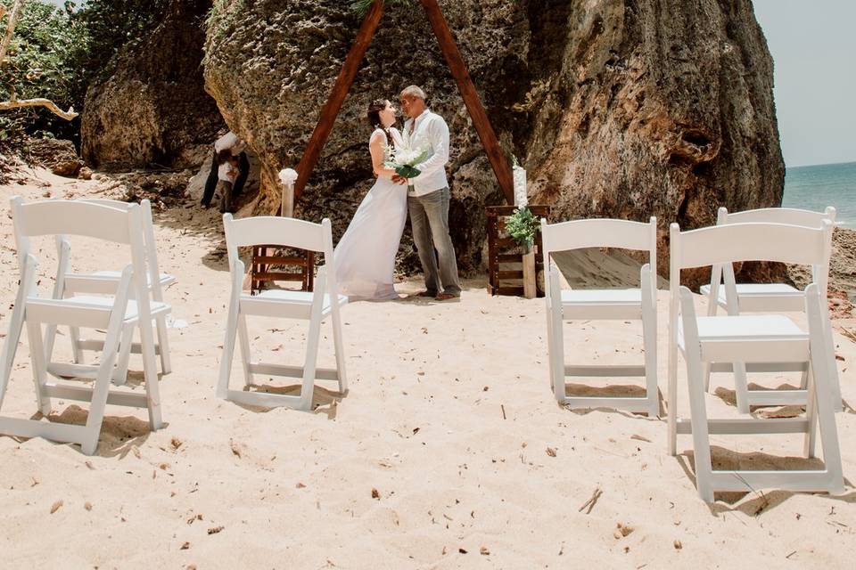
<instances>
[{"instance_id":1,"label":"dark wooden crate behind the green-leafed vase, right of the man","mask_svg":"<svg viewBox=\"0 0 856 570\"><path fill-rule=\"evenodd\" d=\"M506 235L506 219L514 214L514 206L489 206L488 216L488 292L491 295L517 295L523 297L523 254L514 250L520 246ZM535 217L550 219L549 206L530 205ZM506 265L500 267L500 265ZM511 268L507 265L512 265ZM535 238L535 273L544 269L541 257L541 234ZM538 289L544 297L544 290Z\"/></svg>"}]
</instances>

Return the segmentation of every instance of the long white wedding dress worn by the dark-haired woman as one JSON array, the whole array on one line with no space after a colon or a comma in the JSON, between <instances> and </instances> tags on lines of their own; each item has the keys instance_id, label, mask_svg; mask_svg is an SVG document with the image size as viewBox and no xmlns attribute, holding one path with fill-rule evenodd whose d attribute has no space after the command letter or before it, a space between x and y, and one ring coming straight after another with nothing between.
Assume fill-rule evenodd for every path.
<instances>
[{"instance_id":1,"label":"long white wedding dress worn by the dark-haired woman","mask_svg":"<svg viewBox=\"0 0 856 570\"><path fill-rule=\"evenodd\" d=\"M383 134L383 130L375 130L372 136L377 133ZM399 131L391 128L390 135L399 146ZM379 177L333 252L336 281L343 295L374 301L399 297L392 283L406 221L407 186Z\"/></svg>"}]
</instances>

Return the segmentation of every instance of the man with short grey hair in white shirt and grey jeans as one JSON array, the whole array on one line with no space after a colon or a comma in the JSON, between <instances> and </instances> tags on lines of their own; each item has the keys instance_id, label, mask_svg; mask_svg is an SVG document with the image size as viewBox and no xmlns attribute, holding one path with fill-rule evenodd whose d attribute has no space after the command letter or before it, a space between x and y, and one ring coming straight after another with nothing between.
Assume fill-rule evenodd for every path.
<instances>
[{"instance_id":1,"label":"man with short grey hair in white shirt and grey jeans","mask_svg":"<svg viewBox=\"0 0 856 570\"><path fill-rule=\"evenodd\" d=\"M449 182L446 180L449 126L440 115L428 109L425 92L416 85L401 92L400 103L408 117L404 124L405 145L429 150L428 158L416 165L420 175L409 180L398 175L393 178L394 182L408 184L407 210L425 273L426 290L419 293L419 297L446 301L461 296L455 248L449 237Z\"/></svg>"}]
</instances>

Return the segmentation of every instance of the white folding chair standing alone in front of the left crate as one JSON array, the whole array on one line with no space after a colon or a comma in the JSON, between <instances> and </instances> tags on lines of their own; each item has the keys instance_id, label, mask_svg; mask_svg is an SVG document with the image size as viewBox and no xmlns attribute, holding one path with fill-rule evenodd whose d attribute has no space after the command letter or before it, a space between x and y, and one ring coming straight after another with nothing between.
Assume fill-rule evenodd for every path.
<instances>
[{"instance_id":1,"label":"white folding chair standing alone in front of the left crate","mask_svg":"<svg viewBox=\"0 0 856 570\"><path fill-rule=\"evenodd\" d=\"M223 343L223 360L220 362L217 396L236 403L309 410L316 379L336 380L339 383L340 393L345 395L348 382L345 375L340 308L348 303L348 297L339 295L336 287L336 272L333 268L333 232L330 220L325 219L321 224L273 216L235 220L231 214L226 214L223 216L223 226L226 230L232 294L229 299L226 340ZM261 244L324 253L325 265L318 270L315 290L308 292L268 289L259 295L243 293L244 264L238 256L238 248ZM303 366L252 362L246 322L247 317L251 315L309 321L306 358ZM333 322L335 369L317 368L321 323L327 316L331 316ZM240 341L246 387L254 385L253 374L268 374L301 379L300 395L229 389L232 359L235 354L235 335Z\"/></svg>"}]
</instances>

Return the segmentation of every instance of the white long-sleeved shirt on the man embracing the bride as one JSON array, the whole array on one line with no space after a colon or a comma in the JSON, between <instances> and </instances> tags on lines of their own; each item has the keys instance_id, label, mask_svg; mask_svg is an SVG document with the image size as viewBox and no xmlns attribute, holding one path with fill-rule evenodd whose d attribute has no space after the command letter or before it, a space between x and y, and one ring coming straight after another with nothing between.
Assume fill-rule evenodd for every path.
<instances>
[{"instance_id":1,"label":"white long-sleeved shirt on the man embracing the bride","mask_svg":"<svg viewBox=\"0 0 856 570\"><path fill-rule=\"evenodd\" d=\"M408 118L404 124L404 142L411 149L427 148L430 152L424 162L416 165L422 173L411 178L414 191L410 196L424 196L449 186L446 179L446 163L449 162L449 126L440 115L426 109L416 118L416 126Z\"/></svg>"}]
</instances>

